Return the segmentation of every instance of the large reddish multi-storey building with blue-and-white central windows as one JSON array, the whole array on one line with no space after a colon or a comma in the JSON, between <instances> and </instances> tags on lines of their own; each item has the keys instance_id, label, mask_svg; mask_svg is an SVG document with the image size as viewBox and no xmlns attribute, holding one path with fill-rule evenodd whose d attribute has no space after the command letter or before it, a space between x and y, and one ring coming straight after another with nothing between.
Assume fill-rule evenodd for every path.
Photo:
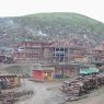
<instances>
[{"instance_id":1,"label":"large reddish multi-storey building with blue-and-white central windows","mask_svg":"<svg viewBox=\"0 0 104 104\"><path fill-rule=\"evenodd\" d=\"M85 48L77 39L49 42L22 42L13 54L16 62L56 63L76 61L85 55Z\"/></svg>"}]
</instances>

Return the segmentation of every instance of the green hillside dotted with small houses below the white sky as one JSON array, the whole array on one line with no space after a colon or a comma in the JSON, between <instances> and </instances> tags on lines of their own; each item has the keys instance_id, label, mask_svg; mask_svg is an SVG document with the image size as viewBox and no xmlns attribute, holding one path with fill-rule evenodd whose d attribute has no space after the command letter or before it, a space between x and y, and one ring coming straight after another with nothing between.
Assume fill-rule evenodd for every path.
<instances>
[{"instance_id":1,"label":"green hillside dotted with small houses below the white sky","mask_svg":"<svg viewBox=\"0 0 104 104\"><path fill-rule=\"evenodd\" d=\"M99 43L104 39L104 24L78 13L37 13L0 19L2 34L12 35L15 41L76 36Z\"/></svg>"}]
</instances>

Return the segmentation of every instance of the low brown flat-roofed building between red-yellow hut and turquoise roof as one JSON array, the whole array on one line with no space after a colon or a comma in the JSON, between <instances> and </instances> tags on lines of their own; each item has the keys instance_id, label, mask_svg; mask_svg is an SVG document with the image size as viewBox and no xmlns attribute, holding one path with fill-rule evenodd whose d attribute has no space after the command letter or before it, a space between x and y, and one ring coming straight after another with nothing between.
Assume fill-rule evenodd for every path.
<instances>
[{"instance_id":1,"label":"low brown flat-roofed building between red-yellow hut and turquoise roof","mask_svg":"<svg viewBox=\"0 0 104 104\"><path fill-rule=\"evenodd\" d=\"M54 67L56 79L78 76L80 70L80 63L59 63Z\"/></svg>"}]
</instances>

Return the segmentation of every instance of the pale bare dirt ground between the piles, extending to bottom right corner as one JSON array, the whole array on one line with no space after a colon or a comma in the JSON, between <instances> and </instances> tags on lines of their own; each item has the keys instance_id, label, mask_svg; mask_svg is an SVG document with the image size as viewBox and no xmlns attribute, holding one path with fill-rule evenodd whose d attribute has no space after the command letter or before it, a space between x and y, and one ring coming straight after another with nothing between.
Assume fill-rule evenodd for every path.
<instances>
[{"instance_id":1,"label":"pale bare dirt ground between the piles, extending to bottom right corner","mask_svg":"<svg viewBox=\"0 0 104 104\"><path fill-rule=\"evenodd\" d=\"M88 97L65 102L66 95L60 91L61 82L33 82L23 81L23 88L33 89L34 95L16 104L104 104L104 88L92 91Z\"/></svg>"}]
</instances>

